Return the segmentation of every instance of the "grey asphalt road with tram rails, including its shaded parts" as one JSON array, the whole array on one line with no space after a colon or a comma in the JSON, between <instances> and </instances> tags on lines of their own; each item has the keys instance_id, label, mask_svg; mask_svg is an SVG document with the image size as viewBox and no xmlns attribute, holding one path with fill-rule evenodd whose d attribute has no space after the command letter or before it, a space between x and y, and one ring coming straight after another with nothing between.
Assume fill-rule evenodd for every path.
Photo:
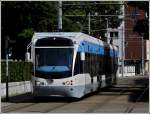
<instances>
[{"instance_id":1,"label":"grey asphalt road with tram rails, including its shaded parts","mask_svg":"<svg viewBox=\"0 0 150 114\"><path fill-rule=\"evenodd\" d=\"M148 76L118 79L117 85L103 88L80 100L72 98L45 97L34 99L31 93L2 100L3 113L148 113Z\"/></svg>"}]
</instances>

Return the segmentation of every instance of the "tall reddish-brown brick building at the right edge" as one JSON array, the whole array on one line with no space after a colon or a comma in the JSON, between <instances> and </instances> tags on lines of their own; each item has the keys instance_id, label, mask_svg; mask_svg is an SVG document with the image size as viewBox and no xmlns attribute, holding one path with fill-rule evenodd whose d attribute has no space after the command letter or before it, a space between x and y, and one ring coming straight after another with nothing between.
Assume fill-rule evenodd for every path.
<instances>
[{"instance_id":1,"label":"tall reddish-brown brick building at the right edge","mask_svg":"<svg viewBox=\"0 0 150 114\"><path fill-rule=\"evenodd\" d=\"M138 7L125 7L125 65L135 65L135 72L142 72L142 58L144 59L144 69L148 72L149 48L148 40L142 41L142 36L133 32L137 20L144 19L146 13ZM143 42L143 44L142 44ZM143 45L143 54L142 54ZM143 56L143 57L142 57Z\"/></svg>"}]
</instances>

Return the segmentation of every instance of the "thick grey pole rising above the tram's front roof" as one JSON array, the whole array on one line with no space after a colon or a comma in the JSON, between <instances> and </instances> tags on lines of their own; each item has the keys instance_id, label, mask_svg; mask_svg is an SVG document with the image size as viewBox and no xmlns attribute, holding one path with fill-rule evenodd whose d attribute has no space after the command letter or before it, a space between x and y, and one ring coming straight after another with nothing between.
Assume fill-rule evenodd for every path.
<instances>
[{"instance_id":1,"label":"thick grey pole rising above the tram's front roof","mask_svg":"<svg viewBox=\"0 0 150 114\"><path fill-rule=\"evenodd\" d=\"M58 1L58 31L62 31L62 1Z\"/></svg>"}]
</instances>

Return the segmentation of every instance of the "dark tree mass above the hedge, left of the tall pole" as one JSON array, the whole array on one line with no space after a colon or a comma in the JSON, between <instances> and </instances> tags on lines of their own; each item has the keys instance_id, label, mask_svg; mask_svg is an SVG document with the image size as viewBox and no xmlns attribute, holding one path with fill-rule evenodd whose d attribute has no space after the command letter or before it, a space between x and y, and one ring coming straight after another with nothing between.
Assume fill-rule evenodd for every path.
<instances>
[{"instance_id":1,"label":"dark tree mass above the hedge, left of the tall pole","mask_svg":"<svg viewBox=\"0 0 150 114\"><path fill-rule=\"evenodd\" d=\"M13 59L23 59L33 33L56 31L57 2L2 1L2 58L5 58L5 36L16 40Z\"/></svg>"}]
</instances>

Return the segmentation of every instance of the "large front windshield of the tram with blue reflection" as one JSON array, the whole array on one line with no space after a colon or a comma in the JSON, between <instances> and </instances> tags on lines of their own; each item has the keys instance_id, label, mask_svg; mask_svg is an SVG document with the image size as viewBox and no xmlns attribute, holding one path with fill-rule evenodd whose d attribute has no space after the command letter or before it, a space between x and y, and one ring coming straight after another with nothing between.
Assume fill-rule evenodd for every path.
<instances>
[{"instance_id":1,"label":"large front windshield of the tram with blue reflection","mask_svg":"<svg viewBox=\"0 0 150 114\"><path fill-rule=\"evenodd\" d=\"M35 48L35 71L67 77L72 72L73 48Z\"/></svg>"}]
</instances>

